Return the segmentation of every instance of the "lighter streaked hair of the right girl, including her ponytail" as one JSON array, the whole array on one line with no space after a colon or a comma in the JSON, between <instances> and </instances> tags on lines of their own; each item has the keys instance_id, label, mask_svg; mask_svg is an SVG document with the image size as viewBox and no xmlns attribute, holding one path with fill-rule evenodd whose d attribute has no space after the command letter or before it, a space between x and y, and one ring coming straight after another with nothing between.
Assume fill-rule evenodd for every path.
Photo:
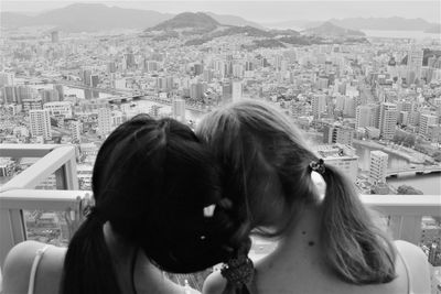
<instances>
[{"instance_id":1,"label":"lighter streaked hair of the right girl, including her ponytail","mask_svg":"<svg viewBox=\"0 0 441 294\"><path fill-rule=\"evenodd\" d=\"M225 170L225 195L241 227L235 236L238 247L248 242L251 230L268 238L282 237L302 209L316 202L309 166L319 159L293 123L272 107L255 100L232 104L209 113L196 133ZM326 164L323 178L321 243L330 266L353 284L391 281L391 241L374 225L353 184L336 168ZM283 211L278 219L270 218L271 207ZM235 291L248 290L239 286Z\"/></svg>"}]
</instances>

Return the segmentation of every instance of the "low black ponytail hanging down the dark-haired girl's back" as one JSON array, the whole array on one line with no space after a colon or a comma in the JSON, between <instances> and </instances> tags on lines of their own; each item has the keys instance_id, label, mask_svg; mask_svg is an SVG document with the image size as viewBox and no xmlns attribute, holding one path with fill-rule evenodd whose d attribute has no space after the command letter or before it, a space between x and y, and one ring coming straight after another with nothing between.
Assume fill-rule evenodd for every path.
<instances>
[{"instance_id":1,"label":"low black ponytail hanging down the dark-haired girl's back","mask_svg":"<svg viewBox=\"0 0 441 294\"><path fill-rule=\"evenodd\" d=\"M64 260L61 294L119 294L104 220L90 214L72 238Z\"/></svg>"}]
</instances>

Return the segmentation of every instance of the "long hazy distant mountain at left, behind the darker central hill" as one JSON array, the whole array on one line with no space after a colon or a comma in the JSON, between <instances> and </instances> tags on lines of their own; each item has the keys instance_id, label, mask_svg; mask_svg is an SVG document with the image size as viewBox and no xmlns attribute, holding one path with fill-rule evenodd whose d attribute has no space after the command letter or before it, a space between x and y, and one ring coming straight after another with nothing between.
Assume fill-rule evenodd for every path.
<instances>
[{"instance_id":1,"label":"long hazy distant mountain at left, behind the darker central hill","mask_svg":"<svg viewBox=\"0 0 441 294\"><path fill-rule=\"evenodd\" d=\"M65 32L95 32L112 29L143 29L170 19L172 14L150 10L122 9L98 3L75 3L35 17L11 20L1 13L2 26L53 25ZM8 14L7 14L8 17ZM14 17L14 15L12 15Z\"/></svg>"}]
</instances>

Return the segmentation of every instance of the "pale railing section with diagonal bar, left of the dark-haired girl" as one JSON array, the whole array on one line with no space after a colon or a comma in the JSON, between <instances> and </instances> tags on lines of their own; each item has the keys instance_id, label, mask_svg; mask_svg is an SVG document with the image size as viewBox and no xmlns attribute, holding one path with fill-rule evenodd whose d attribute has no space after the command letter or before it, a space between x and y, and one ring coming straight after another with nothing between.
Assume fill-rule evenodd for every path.
<instances>
[{"instance_id":1,"label":"pale railing section with diagonal bar, left of the dark-haired girl","mask_svg":"<svg viewBox=\"0 0 441 294\"><path fill-rule=\"evenodd\" d=\"M71 200L76 199L73 194L82 196L84 192L77 190L75 148L72 145L0 144L0 156L40 157L0 187L0 266L2 266L8 251L14 244L26 240L23 209L61 208L60 210L64 211L73 205L74 202ZM35 189L52 174L55 174L57 190ZM56 196L58 194L60 198ZM50 195L52 198L47 199ZM65 202L62 200L62 195L66 195Z\"/></svg>"}]
</instances>

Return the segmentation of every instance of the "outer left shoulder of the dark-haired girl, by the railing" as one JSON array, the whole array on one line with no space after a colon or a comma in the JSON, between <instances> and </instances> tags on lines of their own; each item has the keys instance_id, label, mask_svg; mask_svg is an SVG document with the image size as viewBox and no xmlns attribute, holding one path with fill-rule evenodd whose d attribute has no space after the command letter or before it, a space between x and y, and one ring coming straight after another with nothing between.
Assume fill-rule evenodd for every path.
<instances>
[{"instance_id":1,"label":"outer left shoulder of the dark-haired girl, by the railing","mask_svg":"<svg viewBox=\"0 0 441 294\"><path fill-rule=\"evenodd\" d=\"M45 243L24 241L14 246L9 251L3 266L4 293L28 293L32 263L35 259L36 251L44 247L46 247ZM49 273L61 272L63 269L65 249L51 247L51 252L44 254L45 257L39 265L39 271L44 270ZM56 276L56 279L58 279L58 276Z\"/></svg>"}]
</instances>

